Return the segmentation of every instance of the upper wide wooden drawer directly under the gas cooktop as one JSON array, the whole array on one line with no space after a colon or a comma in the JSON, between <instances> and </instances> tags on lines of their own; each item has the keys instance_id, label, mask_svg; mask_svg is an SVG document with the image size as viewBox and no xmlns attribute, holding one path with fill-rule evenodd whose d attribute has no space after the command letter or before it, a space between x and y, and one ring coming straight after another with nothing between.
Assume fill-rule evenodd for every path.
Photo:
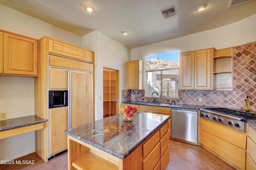
<instances>
[{"instance_id":1,"label":"upper wide wooden drawer directly under the gas cooktop","mask_svg":"<svg viewBox=\"0 0 256 170\"><path fill-rule=\"evenodd\" d=\"M206 121L204 119L201 120L201 129L210 133L214 134L215 136L225 140L243 150L246 150L246 133L244 132L237 132L235 130L231 130L226 127L222 127L220 125L216 125L210 121Z\"/></svg>"}]
</instances>

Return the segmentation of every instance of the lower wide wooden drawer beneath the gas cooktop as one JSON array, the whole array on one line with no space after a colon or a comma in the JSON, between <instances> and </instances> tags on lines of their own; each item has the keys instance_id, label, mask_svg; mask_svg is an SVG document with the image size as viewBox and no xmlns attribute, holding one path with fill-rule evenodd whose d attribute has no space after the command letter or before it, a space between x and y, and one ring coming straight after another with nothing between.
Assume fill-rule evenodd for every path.
<instances>
[{"instance_id":1,"label":"lower wide wooden drawer beneath the gas cooktop","mask_svg":"<svg viewBox=\"0 0 256 170\"><path fill-rule=\"evenodd\" d=\"M201 122L202 123L202 122ZM201 128L201 145L206 146L222 158L230 161L241 169L245 169L246 151L220 138L205 132Z\"/></svg>"}]
</instances>

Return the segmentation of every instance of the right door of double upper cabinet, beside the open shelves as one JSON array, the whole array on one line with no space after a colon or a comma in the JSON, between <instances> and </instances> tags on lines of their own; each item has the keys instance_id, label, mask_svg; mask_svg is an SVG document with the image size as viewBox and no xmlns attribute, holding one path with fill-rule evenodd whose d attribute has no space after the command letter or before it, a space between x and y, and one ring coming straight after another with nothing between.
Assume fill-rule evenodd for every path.
<instances>
[{"instance_id":1,"label":"right door of double upper cabinet, beside the open shelves","mask_svg":"<svg viewBox=\"0 0 256 170\"><path fill-rule=\"evenodd\" d=\"M212 90L213 56L211 50L195 51L194 89Z\"/></svg>"}]
</instances>

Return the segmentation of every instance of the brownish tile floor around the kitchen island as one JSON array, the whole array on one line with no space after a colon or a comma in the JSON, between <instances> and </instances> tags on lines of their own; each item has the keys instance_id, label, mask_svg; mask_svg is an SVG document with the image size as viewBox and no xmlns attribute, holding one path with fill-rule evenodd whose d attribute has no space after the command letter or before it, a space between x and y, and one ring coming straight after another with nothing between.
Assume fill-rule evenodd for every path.
<instances>
[{"instance_id":1,"label":"brownish tile floor around the kitchen island","mask_svg":"<svg viewBox=\"0 0 256 170\"><path fill-rule=\"evenodd\" d=\"M0 170L67 170L68 154L63 152L44 162L36 153L16 160L34 160L34 164L0 165ZM15 160L15 162L16 162ZM201 146L170 140L170 163L167 170L235 170Z\"/></svg>"}]
</instances>

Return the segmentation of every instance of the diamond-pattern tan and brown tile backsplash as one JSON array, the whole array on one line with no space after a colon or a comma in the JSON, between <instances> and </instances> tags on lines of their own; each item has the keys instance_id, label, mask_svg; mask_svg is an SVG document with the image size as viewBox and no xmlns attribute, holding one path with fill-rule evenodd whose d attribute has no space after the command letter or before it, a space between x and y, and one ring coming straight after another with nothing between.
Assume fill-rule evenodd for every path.
<instances>
[{"instance_id":1,"label":"diamond-pattern tan and brown tile backsplash","mask_svg":"<svg viewBox=\"0 0 256 170\"><path fill-rule=\"evenodd\" d=\"M249 96L250 110L256 111L256 42L233 47L232 59L232 91L178 90L178 98L157 98L158 102L244 109ZM130 100L149 102L151 97L145 97L145 90L122 90L122 101Z\"/></svg>"}]
</instances>

